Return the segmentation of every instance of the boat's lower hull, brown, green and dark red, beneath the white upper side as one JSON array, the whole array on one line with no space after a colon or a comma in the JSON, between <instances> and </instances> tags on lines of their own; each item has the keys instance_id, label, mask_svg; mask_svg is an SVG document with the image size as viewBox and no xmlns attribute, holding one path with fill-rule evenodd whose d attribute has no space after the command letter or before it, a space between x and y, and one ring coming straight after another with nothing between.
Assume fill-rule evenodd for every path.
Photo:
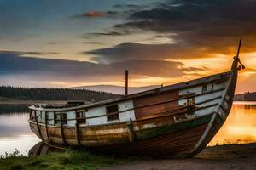
<instances>
[{"instance_id":1,"label":"boat's lower hull, brown, green and dark red, beneath the white upper side","mask_svg":"<svg viewBox=\"0 0 256 170\"><path fill-rule=\"evenodd\" d=\"M88 131L86 127L79 128L79 144L75 128L63 128L63 135L65 135L66 139L66 143L63 143L60 128L48 127L47 131L50 136L48 141L45 125L39 124L37 126L36 123L30 122L30 126L32 131L38 134L39 138L40 135L38 132L40 131L43 139L50 144L84 146L90 150L101 153L131 154L137 156L187 157L195 147L195 144L201 139L212 116L213 114L210 114L188 122L154 127L144 131L135 131L134 141L130 141L129 131L124 130L124 133L114 133L113 135L106 134L105 136L98 137L98 141L105 142L93 142L91 144L89 144L90 136L83 136L83 133ZM127 129L127 126L124 124L120 124L119 127ZM101 130L102 128L99 129L99 131Z\"/></svg>"}]
</instances>

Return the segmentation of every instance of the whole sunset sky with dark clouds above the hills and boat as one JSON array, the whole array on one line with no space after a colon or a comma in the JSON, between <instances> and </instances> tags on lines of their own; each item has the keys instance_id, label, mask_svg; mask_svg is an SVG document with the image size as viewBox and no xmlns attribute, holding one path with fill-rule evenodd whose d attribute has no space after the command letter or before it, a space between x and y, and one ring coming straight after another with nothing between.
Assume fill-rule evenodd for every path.
<instances>
[{"instance_id":1,"label":"whole sunset sky with dark clouds above the hills and boat","mask_svg":"<svg viewBox=\"0 0 256 170\"><path fill-rule=\"evenodd\" d=\"M0 0L0 85L170 85L229 71L256 91L253 0Z\"/></svg>"}]
</instances>

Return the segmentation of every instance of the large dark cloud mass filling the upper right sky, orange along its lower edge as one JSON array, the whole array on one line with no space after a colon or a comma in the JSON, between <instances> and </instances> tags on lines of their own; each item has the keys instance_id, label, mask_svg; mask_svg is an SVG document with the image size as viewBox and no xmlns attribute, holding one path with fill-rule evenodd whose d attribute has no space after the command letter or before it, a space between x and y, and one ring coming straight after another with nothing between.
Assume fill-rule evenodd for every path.
<instances>
[{"instance_id":1,"label":"large dark cloud mass filling the upper right sky, orange along its lower edge","mask_svg":"<svg viewBox=\"0 0 256 170\"><path fill-rule=\"evenodd\" d=\"M236 54L237 42L243 40L241 52L256 48L256 2L169 0L154 3L152 8L132 9L126 21L113 30L171 33L169 44L120 43L84 54L95 54L96 61L125 59L198 59L216 54ZM145 42L147 43L147 42Z\"/></svg>"}]
</instances>

